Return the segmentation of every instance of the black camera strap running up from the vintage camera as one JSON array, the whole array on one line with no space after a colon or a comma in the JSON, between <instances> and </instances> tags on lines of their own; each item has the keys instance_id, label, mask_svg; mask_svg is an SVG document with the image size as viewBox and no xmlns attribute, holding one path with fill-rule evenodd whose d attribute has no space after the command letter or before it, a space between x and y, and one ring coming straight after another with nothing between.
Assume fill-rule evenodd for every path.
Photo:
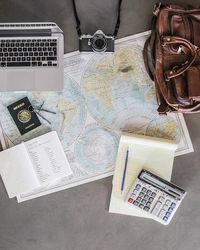
<instances>
[{"instance_id":1,"label":"black camera strap running up from the vintage camera","mask_svg":"<svg viewBox=\"0 0 200 250\"><path fill-rule=\"evenodd\" d=\"M79 19L79 17L78 17L78 14L77 14L75 0L72 0L72 3L73 3L74 16L75 16L75 19L76 19L76 30L77 30L78 36L80 37L80 36L82 35L81 27L80 27L80 26L81 26L81 22L80 22L80 19ZM121 3L122 3L122 0L119 0L119 3L118 3L118 16L117 16L117 22L116 22L115 30L114 30L114 33L113 33L113 36L114 36L114 37L117 36L118 30L119 30Z\"/></svg>"}]
</instances>

